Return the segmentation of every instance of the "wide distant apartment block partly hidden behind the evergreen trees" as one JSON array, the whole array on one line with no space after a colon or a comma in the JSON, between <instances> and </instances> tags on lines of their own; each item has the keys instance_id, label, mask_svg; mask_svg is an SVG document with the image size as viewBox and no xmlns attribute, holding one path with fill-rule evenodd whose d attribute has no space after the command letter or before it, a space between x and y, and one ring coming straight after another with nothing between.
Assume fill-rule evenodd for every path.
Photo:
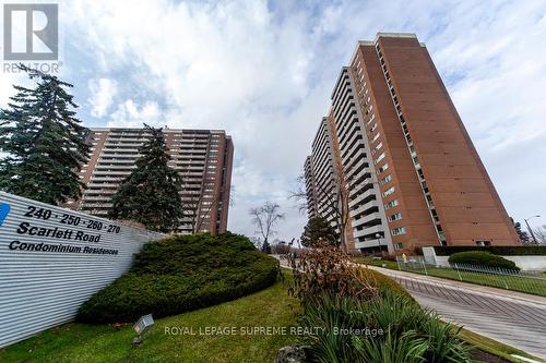
<instances>
[{"instance_id":1,"label":"wide distant apartment block partly hidden behind the evergreen trees","mask_svg":"<svg viewBox=\"0 0 546 363\"><path fill-rule=\"evenodd\" d=\"M171 157L169 166L182 178L185 218L179 232L227 230L234 146L217 130L163 130ZM145 129L91 129L88 162L80 171L87 185L73 208L106 216L121 180L135 168L139 148L150 133Z\"/></svg>"}]
</instances>

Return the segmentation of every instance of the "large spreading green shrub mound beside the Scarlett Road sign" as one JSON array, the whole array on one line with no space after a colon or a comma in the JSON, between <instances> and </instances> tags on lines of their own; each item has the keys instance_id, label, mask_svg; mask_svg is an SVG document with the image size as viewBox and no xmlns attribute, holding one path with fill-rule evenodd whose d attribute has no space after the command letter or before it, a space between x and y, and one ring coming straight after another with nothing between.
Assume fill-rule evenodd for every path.
<instances>
[{"instance_id":1,"label":"large spreading green shrub mound beside the Scarlett Road sign","mask_svg":"<svg viewBox=\"0 0 546 363\"><path fill-rule=\"evenodd\" d=\"M278 262L242 235L176 235L146 243L133 267L79 310L85 323L134 322L234 300L273 285Z\"/></svg>"}]
</instances>

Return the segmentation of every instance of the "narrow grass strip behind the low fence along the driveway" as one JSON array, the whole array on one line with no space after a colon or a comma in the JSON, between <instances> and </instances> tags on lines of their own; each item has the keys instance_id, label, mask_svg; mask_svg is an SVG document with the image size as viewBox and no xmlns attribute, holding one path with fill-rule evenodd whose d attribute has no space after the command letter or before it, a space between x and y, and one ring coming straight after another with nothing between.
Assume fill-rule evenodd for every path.
<instances>
[{"instance_id":1,"label":"narrow grass strip behind the low fence along the driveway","mask_svg":"<svg viewBox=\"0 0 546 363\"><path fill-rule=\"evenodd\" d=\"M357 263L368 264L372 266L385 267L390 269L399 269L399 265L395 262L382 261L370 257L356 257ZM525 293L531 293L535 295L546 297L546 280L538 280L519 276L500 276L492 274L480 274L474 271L463 271L459 273L451 268L437 268L427 266L427 271L425 269L403 269L407 273L416 273L422 275L429 275L435 277L447 278L451 280L464 281L476 285L490 286L494 288L509 289L513 291L520 291Z\"/></svg>"}]
</instances>

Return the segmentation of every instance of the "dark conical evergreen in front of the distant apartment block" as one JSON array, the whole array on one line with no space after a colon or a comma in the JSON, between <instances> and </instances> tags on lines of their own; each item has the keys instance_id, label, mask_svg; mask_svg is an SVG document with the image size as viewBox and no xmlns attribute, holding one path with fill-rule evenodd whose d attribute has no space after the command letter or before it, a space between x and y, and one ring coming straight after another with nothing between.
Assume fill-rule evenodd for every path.
<instances>
[{"instance_id":1,"label":"dark conical evergreen in front of the distant apartment block","mask_svg":"<svg viewBox=\"0 0 546 363\"><path fill-rule=\"evenodd\" d=\"M151 230L169 232L182 218L178 172L168 166L170 156L162 129L150 128L150 138L140 148L136 168L120 184L112 196L110 217L138 221Z\"/></svg>"}]
</instances>

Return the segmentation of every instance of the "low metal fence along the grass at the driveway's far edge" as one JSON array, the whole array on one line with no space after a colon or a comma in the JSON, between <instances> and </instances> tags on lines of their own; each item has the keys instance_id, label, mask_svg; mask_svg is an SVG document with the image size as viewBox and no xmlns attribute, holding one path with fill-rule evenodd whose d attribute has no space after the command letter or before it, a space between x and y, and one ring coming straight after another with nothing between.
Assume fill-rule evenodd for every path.
<instances>
[{"instance_id":1,"label":"low metal fence along the grass at the driveway's far edge","mask_svg":"<svg viewBox=\"0 0 546 363\"><path fill-rule=\"evenodd\" d=\"M466 264L437 266L427 264L422 256L412 256L406 261L397 257L396 263L400 270L546 297L546 275L537 271L518 271Z\"/></svg>"}]
</instances>

